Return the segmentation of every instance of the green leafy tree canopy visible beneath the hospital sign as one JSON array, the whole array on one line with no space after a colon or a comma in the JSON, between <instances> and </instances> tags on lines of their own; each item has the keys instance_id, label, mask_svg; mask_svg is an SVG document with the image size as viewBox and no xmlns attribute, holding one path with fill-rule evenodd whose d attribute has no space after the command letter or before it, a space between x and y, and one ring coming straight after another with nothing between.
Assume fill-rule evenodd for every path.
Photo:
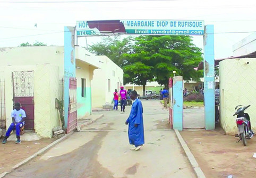
<instances>
[{"instance_id":1,"label":"green leafy tree canopy visible beneath the hospital sign","mask_svg":"<svg viewBox=\"0 0 256 178\"><path fill-rule=\"evenodd\" d=\"M124 83L142 85L143 92L147 81L167 87L174 70L184 80L197 81L202 76L202 71L194 70L203 60L201 49L190 36L108 37L90 46L90 51L112 59L124 70Z\"/></svg>"}]
</instances>

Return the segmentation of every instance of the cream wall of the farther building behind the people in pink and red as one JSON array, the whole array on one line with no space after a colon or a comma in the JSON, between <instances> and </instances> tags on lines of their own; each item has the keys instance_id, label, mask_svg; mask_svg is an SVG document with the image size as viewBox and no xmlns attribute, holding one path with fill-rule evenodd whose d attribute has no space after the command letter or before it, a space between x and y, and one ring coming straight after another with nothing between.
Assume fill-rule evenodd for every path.
<instances>
[{"instance_id":1,"label":"cream wall of the farther building behind the people in pink and red","mask_svg":"<svg viewBox=\"0 0 256 178\"><path fill-rule=\"evenodd\" d=\"M101 65L100 69L93 72L91 81L92 107L102 107L106 102L111 103L113 92L117 86L123 84L123 70L105 55L97 56ZM108 90L108 79L110 79L110 91Z\"/></svg>"}]
</instances>

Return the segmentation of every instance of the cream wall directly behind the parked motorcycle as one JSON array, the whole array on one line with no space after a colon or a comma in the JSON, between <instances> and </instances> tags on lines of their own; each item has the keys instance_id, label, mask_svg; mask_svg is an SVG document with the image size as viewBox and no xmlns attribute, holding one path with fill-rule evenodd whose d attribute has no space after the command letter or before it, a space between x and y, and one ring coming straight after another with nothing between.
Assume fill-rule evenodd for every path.
<instances>
[{"instance_id":1,"label":"cream wall directly behind the parked motorcycle","mask_svg":"<svg viewBox=\"0 0 256 178\"><path fill-rule=\"evenodd\" d=\"M249 62L249 64L246 64ZM228 59L219 63L220 123L226 134L237 133L235 117L237 105L251 105L246 110L256 130L256 59Z\"/></svg>"}]
</instances>

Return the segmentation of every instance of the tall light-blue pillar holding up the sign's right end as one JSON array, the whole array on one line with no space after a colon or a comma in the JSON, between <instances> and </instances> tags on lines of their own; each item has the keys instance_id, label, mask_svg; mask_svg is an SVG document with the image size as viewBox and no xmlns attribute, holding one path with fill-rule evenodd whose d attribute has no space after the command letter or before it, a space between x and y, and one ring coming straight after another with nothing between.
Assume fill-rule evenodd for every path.
<instances>
[{"instance_id":1,"label":"tall light-blue pillar holding up the sign's right end","mask_svg":"<svg viewBox=\"0 0 256 178\"><path fill-rule=\"evenodd\" d=\"M204 34L204 121L206 130L215 129L214 25L206 25Z\"/></svg>"}]
</instances>

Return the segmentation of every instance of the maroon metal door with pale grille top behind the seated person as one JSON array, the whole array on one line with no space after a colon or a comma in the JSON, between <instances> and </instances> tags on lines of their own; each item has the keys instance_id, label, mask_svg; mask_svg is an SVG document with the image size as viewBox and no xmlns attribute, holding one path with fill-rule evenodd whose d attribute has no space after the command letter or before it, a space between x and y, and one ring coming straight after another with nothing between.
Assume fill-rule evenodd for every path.
<instances>
[{"instance_id":1,"label":"maroon metal door with pale grille top behind the seated person","mask_svg":"<svg viewBox=\"0 0 256 178\"><path fill-rule=\"evenodd\" d=\"M35 129L34 123L34 72L21 71L12 73L13 102L20 102L25 111L25 129Z\"/></svg>"}]
</instances>

